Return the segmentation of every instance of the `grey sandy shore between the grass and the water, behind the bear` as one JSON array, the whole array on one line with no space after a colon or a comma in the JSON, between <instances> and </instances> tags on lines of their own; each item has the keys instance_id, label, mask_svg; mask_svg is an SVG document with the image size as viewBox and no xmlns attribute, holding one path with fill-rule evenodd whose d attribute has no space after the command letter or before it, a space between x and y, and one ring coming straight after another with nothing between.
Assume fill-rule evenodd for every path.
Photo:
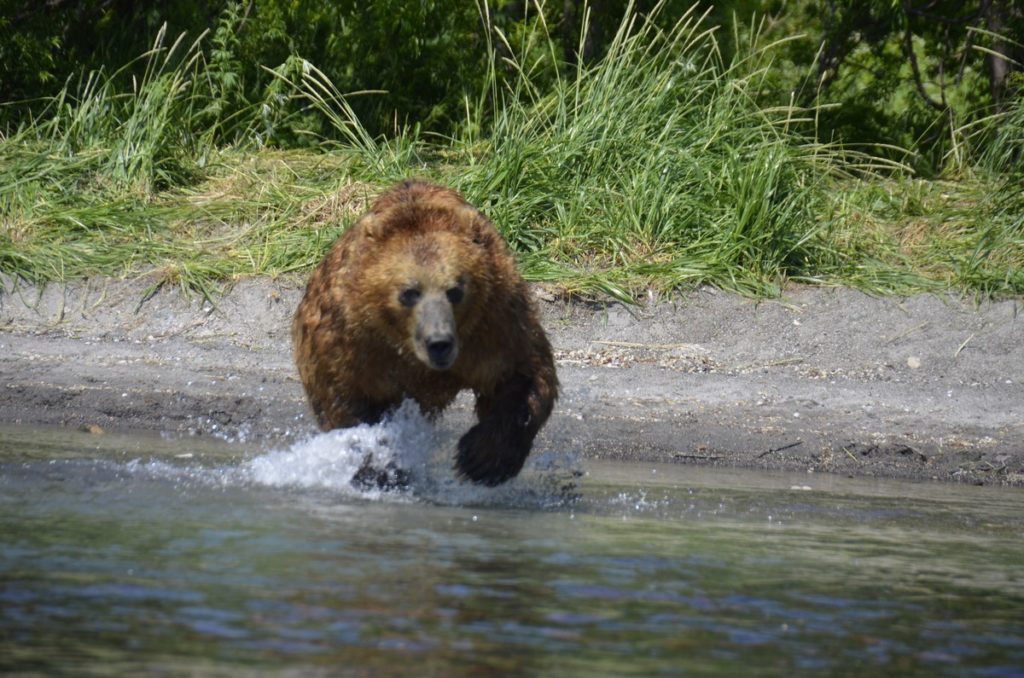
<instances>
[{"instance_id":1,"label":"grey sandy shore between the grass and the water, behind the bear","mask_svg":"<svg viewBox=\"0 0 1024 678\"><path fill-rule=\"evenodd\" d=\"M247 281L215 307L170 288L143 301L147 287L0 279L0 424L268 443L312 431L291 363L297 281ZM1020 302L538 296L563 387L542 449L1024 485ZM461 398L449 421L470 416Z\"/></svg>"}]
</instances>

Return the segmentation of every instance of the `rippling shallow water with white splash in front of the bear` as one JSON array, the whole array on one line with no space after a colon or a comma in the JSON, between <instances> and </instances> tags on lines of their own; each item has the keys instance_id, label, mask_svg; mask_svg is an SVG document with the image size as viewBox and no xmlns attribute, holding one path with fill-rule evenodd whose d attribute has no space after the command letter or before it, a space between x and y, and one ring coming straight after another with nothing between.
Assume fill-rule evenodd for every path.
<instances>
[{"instance_id":1,"label":"rippling shallow water with white splash in front of the bear","mask_svg":"<svg viewBox=\"0 0 1024 678\"><path fill-rule=\"evenodd\" d=\"M1019 491L0 428L0 672L1024 675ZM367 454L413 470L360 494Z\"/></svg>"}]
</instances>

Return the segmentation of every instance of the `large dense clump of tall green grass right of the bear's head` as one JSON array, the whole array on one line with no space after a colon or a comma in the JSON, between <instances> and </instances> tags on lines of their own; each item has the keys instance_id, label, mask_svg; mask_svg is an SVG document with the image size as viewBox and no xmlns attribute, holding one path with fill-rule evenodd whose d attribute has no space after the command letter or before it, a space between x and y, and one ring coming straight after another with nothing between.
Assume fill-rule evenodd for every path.
<instances>
[{"instance_id":1,"label":"large dense clump of tall green grass right of the bear's head","mask_svg":"<svg viewBox=\"0 0 1024 678\"><path fill-rule=\"evenodd\" d=\"M600 63L550 91L511 62L518 78L493 107L492 134L456 141L450 181L538 280L774 294L812 274L828 256L817 216L837 151L796 133L807 112L757 105L770 48L725 65L695 9L668 32L655 18L629 14Z\"/></svg>"}]
</instances>

